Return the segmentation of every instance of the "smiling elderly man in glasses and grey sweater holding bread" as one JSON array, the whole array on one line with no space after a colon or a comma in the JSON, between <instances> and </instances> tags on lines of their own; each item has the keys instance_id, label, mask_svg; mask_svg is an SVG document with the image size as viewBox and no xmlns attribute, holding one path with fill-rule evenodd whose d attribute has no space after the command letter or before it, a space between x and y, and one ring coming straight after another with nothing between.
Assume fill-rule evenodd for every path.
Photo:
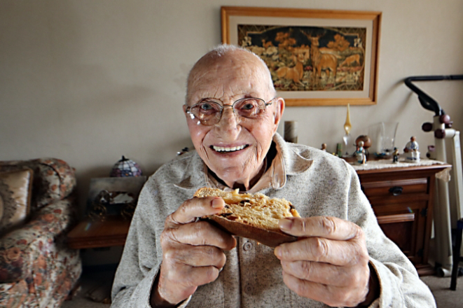
<instances>
[{"instance_id":1,"label":"smiling elderly man in glasses and grey sweater holding bread","mask_svg":"<svg viewBox=\"0 0 463 308\"><path fill-rule=\"evenodd\" d=\"M380 230L354 169L277 134L284 100L256 55L230 45L188 76L195 152L151 176L113 284L113 307L435 307L413 265ZM219 197L198 188L284 197L298 241L272 249L206 221Z\"/></svg>"}]
</instances>

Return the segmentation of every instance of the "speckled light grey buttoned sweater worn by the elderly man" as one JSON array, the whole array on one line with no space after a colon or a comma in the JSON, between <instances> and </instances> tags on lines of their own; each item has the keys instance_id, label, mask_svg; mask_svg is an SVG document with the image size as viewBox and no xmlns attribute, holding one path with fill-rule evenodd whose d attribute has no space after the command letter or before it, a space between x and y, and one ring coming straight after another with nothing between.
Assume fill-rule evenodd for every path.
<instances>
[{"instance_id":1,"label":"speckled light grey buttoned sweater worn by the elderly man","mask_svg":"<svg viewBox=\"0 0 463 308\"><path fill-rule=\"evenodd\" d=\"M336 216L364 230L381 288L380 298L371 307L436 307L415 267L382 233L354 169L329 153L288 144L278 134L274 141L282 155L286 183L259 192L291 201L302 217ZM162 261L160 233L165 218L204 186L210 186L207 169L195 152L168 162L148 179L116 272L111 307L150 307L151 288ZM181 307L327 307L286 287L279 260L268 246L239 238L226 258L219 278L200 286Z\"/></svg>"}]
</instances>

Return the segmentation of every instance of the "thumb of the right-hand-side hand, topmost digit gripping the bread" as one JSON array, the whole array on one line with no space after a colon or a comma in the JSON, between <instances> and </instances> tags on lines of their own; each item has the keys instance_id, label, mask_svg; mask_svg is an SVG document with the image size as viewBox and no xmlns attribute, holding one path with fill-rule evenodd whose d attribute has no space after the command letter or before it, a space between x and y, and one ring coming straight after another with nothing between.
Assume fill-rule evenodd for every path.
<instances>
[{"instance_id":1,"label":"thumb of the right-hand-side hand, topmost digit gripping the bread","mask_svg":"<svg viewBox=\"0 0 463 308\"><path fill-rule=\"evenodd\" d=\"M361 230L350 221L329 216L284 218L279 220L279 228L295 237L325 237L338 240L352 239Z\"/></svg>"}]
</instances>

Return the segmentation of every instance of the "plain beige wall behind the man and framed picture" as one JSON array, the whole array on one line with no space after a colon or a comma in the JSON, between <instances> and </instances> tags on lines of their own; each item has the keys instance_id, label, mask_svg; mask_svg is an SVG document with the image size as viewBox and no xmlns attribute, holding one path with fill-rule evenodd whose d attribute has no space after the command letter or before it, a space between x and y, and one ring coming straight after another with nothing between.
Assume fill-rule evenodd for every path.
<instances>
[{"instance_id":1,"label":"plain beige wall behind the man and framed picture","mask_svg":"<svg viewBox=\"0 0 463 308\"><path fill-rule=\"evenodd\" d=\"M461 0L2 0L0 160L67 160L81 196L121 155L153 173L191 145L186 74L220 43L220 7L230 4L382 11L378 104L351 107L352 134L399 121L399 148L411 135L422 152L431 144L420 127L432 113L402 80L463 73ZM463 81L420 86L462 130ZM300 143L334 151L345 107L287 108L283 120L298 120Z\"/></svg>"}]
</instances>

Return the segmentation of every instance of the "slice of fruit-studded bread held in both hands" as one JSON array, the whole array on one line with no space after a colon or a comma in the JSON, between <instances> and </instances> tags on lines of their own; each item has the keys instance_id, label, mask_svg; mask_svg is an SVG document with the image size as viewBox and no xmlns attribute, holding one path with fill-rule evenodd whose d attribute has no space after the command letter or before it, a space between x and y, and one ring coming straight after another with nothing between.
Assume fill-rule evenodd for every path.
<instances>
[{"instance_id":1,"label":"slice of fruit-studded bread held in both hands","mask_svg":"<svg viewBox=\"0 0 463 308\"><path fill-rule=\"evenodd\" d=\"M279 230L279 219L300 217L291 202L270 198L261 193L238 193L238 190L226 192L216 188L200 188L195 197L221 197L225 208L219 213L207 216L232 235L247 237L270 246L276 247L297 238L286 235Z\"/></svg>"}]
</instances>

